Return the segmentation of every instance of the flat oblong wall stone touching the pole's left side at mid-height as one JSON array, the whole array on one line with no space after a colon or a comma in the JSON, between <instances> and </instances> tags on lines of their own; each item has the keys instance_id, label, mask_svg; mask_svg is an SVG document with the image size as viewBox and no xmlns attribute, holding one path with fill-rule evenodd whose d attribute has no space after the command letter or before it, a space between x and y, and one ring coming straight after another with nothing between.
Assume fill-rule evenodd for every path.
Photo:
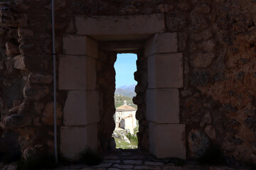
<instances>
[{"instance_id":1,"label":"flat oblong wall stone touching the pole's left side at mid-height","mask_svg":"<svg viewBox=\"0 0 256 170\"><path fill-rule=\"evenodd\" d=\"M50 84L53 81L52 75L43 75L36 72L31 72L28 75L28 81L38 84Z\"/></svg>"}]
</instances>

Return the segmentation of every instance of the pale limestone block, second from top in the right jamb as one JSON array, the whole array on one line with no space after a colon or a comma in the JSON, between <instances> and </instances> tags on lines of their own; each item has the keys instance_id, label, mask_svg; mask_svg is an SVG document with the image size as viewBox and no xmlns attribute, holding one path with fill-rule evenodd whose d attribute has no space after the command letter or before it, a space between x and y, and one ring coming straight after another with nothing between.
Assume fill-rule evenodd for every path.
<instances>
[{"instance_id":1,"label":"pale limestone block, second from top in the right jamb","mask_svg":"<svg viewBox=\"0 0 256 170\"><path fill-rule=\"evenodd\" d=\"M148 58L149 89L183 87L182 53L155 54Z\"/></svg>"}]
</instances>

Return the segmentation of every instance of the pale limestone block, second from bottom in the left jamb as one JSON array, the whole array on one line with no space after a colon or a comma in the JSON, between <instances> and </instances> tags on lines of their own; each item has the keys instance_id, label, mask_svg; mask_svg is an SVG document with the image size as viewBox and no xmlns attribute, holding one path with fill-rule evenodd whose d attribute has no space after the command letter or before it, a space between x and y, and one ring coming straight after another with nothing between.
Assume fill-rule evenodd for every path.
<instances>
[{"instance_id":1,"label":"pale limestone block, second from bottom in the left jamb","mask_svg":"<svg viewBox=\"0 0 256 170\"><path fill-rule=\"evenodd\" d=\"M99 92L69 91L63 113L64 125L89 125L99 122Z\"/></svg>"}]
</instances>

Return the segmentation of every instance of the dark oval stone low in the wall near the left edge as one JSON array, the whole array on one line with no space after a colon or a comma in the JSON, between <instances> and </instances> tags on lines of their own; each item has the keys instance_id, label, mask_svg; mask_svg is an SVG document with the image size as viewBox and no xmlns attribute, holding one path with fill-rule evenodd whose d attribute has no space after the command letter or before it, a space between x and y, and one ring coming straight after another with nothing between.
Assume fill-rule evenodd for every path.
<instances>
[{"instance_id":1,"label":"dark oval stone low in the wall near the left edge","mask_svg":"<svg viewBox=\"0 0 256 170\"><path fill-rule=\"evenodd\" d=\"M24 127L31 124L31 118L26 115L10 115L5 123L12 128Z\"/></svg>"}]
</instances>

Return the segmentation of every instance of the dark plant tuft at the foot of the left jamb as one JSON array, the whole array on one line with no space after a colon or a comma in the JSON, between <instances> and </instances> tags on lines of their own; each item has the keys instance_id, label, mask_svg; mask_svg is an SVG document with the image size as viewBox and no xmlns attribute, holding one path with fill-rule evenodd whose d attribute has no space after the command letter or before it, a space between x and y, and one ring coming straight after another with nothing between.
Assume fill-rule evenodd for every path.
<instances>
[{"instance_id":1,"label":"dark plant tuft at the foot of the left jamb","mask_svg":"<svg viewBox=\"0 0 256 170\"><path fill-rule=\"evenodd\" d=\"M102 156L92 149L85 149L80 153L80 163L87 164L88 166L94 166L100 164L103 161Z\"/></svg>"}]
</instances>

